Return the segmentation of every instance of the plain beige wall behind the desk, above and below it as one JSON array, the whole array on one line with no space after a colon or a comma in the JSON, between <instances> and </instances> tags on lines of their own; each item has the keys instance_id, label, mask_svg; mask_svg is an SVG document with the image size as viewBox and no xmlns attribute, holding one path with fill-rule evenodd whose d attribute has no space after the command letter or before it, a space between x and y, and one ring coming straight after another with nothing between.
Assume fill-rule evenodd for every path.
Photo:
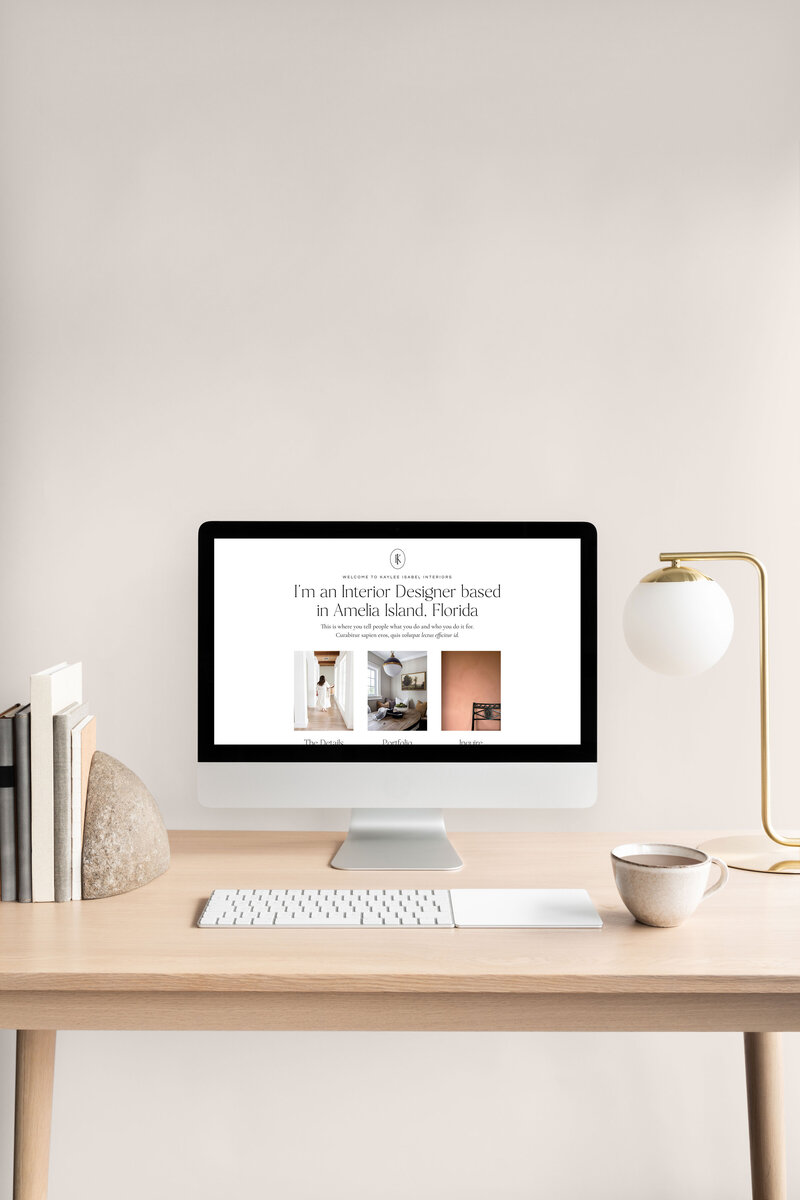
<instances>
[{"instance_id":1,"label":"plain beige wall behind the desk, above and below it","mask_svg":"<svg viewBox=\"0 0 800 1200\"><path fill-rule=\"evenodd\" d=\"M588 518L597 806L453 827L753 823L747 569L715 572L738 631L709 674L622 641L674 545L770 566L796 826L799 43L778 0L6 0L5 700L82 659L169 824L288 824L196 803L198 524ZM324 493L312 442L347 449ZM379 505L354 464L392 446ZM742 1087L727 1036L72 1033L53 1194L738 1200Z\"/></svg>"}]
</instances>

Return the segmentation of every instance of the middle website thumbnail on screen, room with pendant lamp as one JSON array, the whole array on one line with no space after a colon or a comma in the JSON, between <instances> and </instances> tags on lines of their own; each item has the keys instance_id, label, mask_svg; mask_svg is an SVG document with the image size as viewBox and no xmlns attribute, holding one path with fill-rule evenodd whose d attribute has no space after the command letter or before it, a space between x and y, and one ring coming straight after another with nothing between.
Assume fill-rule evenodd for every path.
<instances>
[{"instance_id":1,"label":"middle website thumbnail on screen, room with pendant lamp","mask_svg":"<svg viewBox=\"0 0 800 1200\"><path fill-rule=\"evenodd\" d=\"M419 650L367 654L367 730L421 733L428 727L428 656Z\"/></svg>"}]
</instances>

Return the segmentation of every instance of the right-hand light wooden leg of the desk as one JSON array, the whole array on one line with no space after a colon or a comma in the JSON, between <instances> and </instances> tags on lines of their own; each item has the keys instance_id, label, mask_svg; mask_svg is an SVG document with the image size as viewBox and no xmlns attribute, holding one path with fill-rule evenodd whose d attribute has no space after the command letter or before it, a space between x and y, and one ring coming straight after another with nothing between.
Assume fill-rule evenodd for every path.
<instances>
[{"instance_id":1,"label":"right-hand light wooden leg of the desk","mask_svg":"<svg viewBox=\"0 0 800 1200\"><path fill-rule=\"evenodd\" d=\"M786 1200L780 1033L745 1033L745 1070L753 1200Z\"/></svg>"}]
</instances>

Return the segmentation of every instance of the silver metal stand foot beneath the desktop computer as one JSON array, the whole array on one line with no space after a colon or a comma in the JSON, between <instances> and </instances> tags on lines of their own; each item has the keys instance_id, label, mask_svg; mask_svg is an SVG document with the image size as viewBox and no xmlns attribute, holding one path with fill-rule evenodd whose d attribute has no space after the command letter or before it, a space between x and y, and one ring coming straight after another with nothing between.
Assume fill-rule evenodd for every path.
<instances>
[{"instance_id":1,"label":"silver metal stand foot beneath the desktop computer","mask_svg":"<svg viewBox=\"0 0 800 1200\"><path fill-rule=\"evenodd\" d=\"M331 866L341 871L457 871L441 809L353 809Z\"/></svg>"}]
</instances>

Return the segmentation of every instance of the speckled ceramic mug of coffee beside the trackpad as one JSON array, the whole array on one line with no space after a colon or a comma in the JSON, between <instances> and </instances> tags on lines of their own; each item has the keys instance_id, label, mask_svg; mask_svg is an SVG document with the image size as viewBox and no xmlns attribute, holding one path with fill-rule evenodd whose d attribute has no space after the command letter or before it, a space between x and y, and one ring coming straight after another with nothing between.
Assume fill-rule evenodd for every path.
<instances>
[{"instance_id":1,"label":"speckled ceramic mug of coffee beside the trackpad","mask_svg":"<svg viewBox=\"0 0 800 1200\"><path fill-rule=\"evenodd\" d=\"M711 864L720 878L708 886ZM616 890L628 912L643 925L670 929L691 917L700 900L728 882L728 868L718 858L691 846L628 842L612 850Z\"/></svg>"}]
</instances>

